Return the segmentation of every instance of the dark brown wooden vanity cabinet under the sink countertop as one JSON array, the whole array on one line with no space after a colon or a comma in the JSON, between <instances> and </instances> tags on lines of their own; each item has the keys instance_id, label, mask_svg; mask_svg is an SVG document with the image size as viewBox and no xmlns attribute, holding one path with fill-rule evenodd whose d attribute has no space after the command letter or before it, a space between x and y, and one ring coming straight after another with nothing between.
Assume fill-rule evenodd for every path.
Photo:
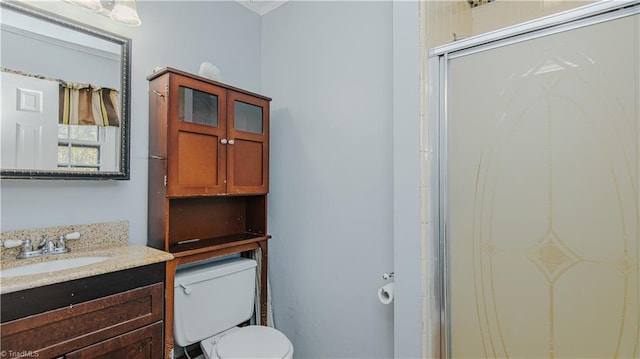
<instances>
[{"instance_id":1,"label":"dark brown wooden vanity cabinet under the sink countertop","mask_svg":"<svg viewBox=\"0 0 640 359\"><path fill-rule=\"evenodd\" d=\"M1 353L162 358L164 278L165 264L157 263L3 294Z\"/></svg>"}]
</instances>

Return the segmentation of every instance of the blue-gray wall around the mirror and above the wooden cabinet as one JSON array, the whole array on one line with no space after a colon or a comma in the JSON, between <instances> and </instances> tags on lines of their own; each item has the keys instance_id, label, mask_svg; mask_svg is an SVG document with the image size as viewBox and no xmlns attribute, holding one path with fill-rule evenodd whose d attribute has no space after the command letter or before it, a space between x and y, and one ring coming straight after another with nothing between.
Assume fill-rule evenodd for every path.
<instances>
[{"instance_id":1,"label":"blue-gray wall around the mirror and above the wooden cabinet","mask_svg":"<svg viewBox=\"0 0 640 359\"><path fill-rule=\"evenodd\" d=\"M51 5L55 5L52 2ZM58 2L55 2L58 3ZM130 241L147 240L148 84L156 66L196 72L210 61L223 81L260 90L260 16L236 2L140 1L140 27L115 24L108 18L59 7L74 18L130 37L131 180L29 181L2 180L2 231L128 220ZM53 9L55 10L55 9Z\"/></svg>"}]
</instances>

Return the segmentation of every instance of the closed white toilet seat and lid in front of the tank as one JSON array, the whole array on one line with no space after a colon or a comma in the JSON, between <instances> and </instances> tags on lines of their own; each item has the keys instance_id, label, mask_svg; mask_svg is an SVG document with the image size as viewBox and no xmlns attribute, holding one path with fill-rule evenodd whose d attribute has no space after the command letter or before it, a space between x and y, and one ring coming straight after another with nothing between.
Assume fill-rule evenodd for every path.
<instances>
[{"instance_id":1,"label":"closed white toilet seat and lid in front of the tank","mask_svg":"<svg viewBox=\"0 0 640 359\"><path fill-rule=\"evenodd\" d=\"M239 328L217 341L203 340L208 358L292 358L293 345L280 331L259 325Z\"/></svg>"}]
</instances>

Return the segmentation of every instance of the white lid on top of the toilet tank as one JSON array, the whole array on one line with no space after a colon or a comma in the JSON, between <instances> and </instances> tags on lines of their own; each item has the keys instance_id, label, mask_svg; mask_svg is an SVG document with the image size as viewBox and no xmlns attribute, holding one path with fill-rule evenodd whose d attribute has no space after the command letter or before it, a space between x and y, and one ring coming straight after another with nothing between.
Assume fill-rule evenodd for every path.
<instances>
[{"instance_id":1,"label":"white lid on top of the toilet tank","mask_svg":"<svg viewBox=\"0 0 640 359\"><path fill-rule=\"evenodd\" d=\"M179 268L176 271L174 287L177 288L181 284L193 284L253 269L256 265L256 261L253 259L231 258L203 265L194 265L185 269Z\"/></svg>"}]
</instances>

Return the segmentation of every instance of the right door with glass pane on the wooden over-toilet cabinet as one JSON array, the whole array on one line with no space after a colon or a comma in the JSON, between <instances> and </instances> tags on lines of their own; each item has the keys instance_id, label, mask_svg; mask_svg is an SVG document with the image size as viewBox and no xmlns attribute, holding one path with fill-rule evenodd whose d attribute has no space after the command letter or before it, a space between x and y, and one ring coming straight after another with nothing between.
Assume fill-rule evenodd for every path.
<instances>
[{"instance_id":1,"label":"right door with glass pane on the wooden over-toilet cabinet","mask_svg":"<svg viewBox=\"0 0 640 359\"><path fill-rule=\"evenodd\" d=\"M227 192L269 191L269 101L243 93L227 95Z\"/></svg>"}]
</instances>

